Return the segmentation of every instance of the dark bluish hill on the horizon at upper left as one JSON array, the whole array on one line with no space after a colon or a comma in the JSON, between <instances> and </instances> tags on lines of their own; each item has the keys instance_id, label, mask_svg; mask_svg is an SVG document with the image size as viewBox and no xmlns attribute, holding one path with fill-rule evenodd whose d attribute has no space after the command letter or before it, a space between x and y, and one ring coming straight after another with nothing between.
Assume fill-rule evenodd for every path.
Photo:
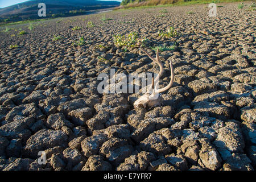
<instances>
[{"instance_id":1,"label":"dark bluish hill on the horizon at upper left","mask_svg":"<svg viewBox=\"0 0 256 182\"><path fill-rule=\"evenodd\" d=\"M46 17L71 16L86 14L91 10L107 9L120 5L118 1L97 0L31 0L0 9L2 21L38 19L38 4L46 4Z\"/></svg>"}]
</instances>

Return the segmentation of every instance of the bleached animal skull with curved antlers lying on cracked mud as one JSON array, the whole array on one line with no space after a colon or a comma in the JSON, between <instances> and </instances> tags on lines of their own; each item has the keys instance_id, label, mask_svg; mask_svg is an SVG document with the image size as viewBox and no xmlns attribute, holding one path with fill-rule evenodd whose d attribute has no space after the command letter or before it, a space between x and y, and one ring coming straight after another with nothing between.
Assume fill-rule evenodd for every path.
<instances>
[{"instance_id":1,"label":"bleached animal skull with curved antlers lying on cracked mud","mask_svg":"<svg viewBox=\"0 0 256 182\"><path fill-rule=\"evenodd\" d=\"M147 92L138 98L137 101L134 102L134 108L136 107L155 107L155 106L162 106L163 104L163 98L160 96L159 93L164 92L168 89L171 88L172 84L174 83L174 67L172 67L172 61L170 60L170 68L171 68L171 81L169 82L169 84L167 86L165 86L162 89L156 89L155 88L155 84L158 85L159 83L159 78L163 75L163 64L161 63L161 61L159 60L159 48L156 51L156 57L152 57L147 51L145 51L143 48L141 48L143 52L146 53L146 55L148 57L150 57L150 59L152 61L154 61L155 63L157 63L160 67L160 71L158 73L158 76L156 76L156 78L154 79L154 77L152 77L152 84L150 85L150 89L147 90ZM155 81L154 81L155 80Z\"/></svg>"}]
</instances>

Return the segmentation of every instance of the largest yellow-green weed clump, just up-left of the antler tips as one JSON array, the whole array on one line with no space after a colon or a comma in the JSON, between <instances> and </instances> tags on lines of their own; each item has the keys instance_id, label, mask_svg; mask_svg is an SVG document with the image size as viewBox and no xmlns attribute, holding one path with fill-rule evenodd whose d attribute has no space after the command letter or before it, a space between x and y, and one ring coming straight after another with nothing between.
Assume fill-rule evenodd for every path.
<instances>
[{"instance_id":1,"label":"largest yellow-green weed clump, just up-left of the antler tips","mask_svg":"<svg viewBox=\"0 0 256 182\"><path fill-rule=\"evenodd\" d=\"M128 36L125 35L114 35L114 44L117 47L121 48L130 48L130 47L139 47L139 46L145 46L147 43L147 39L139 39L137 32L130 32Z\"/></svg>"}]
</instances>

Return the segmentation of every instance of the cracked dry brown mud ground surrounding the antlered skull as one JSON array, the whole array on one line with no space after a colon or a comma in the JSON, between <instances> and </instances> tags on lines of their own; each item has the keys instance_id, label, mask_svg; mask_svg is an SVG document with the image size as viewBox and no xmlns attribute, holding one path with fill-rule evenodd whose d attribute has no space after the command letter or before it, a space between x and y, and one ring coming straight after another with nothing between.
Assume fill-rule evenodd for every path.
<instances>
[{"instance_id":1,"label":"cracked dry brown mud ground surrounding the antlered skull","mask_svg":"<svg viewBox=\"0 0 256 182\"><path fill-rule=\"evenodd\" d=\"M255 11L221 5L217 18L208 17L208 5L156 7L106 13L105 23L97 14L1 31L0 169L255 169ZM87 28L89 20L96 26ZM97 75L110 68L159 70L139 48L116 48L112 35L137 31L148 46L168 46L158 31L170 26L182 36L174 51L160 52L160 87L170 80L170 59L175 70L164 106L134 110L138 94L98 94ZM10 36L15 28L28 34ZM85 46L72 46L80 36ZM46 164L38 164L39 151Z\"/></svg>"}]
</instances>

